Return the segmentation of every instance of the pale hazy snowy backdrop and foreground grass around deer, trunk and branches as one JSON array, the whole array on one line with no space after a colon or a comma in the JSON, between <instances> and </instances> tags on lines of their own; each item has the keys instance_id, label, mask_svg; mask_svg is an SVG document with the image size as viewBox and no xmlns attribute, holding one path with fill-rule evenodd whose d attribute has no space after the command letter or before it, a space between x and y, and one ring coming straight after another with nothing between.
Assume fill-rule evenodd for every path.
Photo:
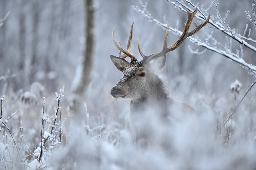
<instances>
[{"instance_id":1,"label":"pale hazy snowy backdrop and foreground grass around deer, trunk and branches","mask_svg":"<svg viewBox=\"0 0 256 170\"><path fill-rule=\"evenodd\" d=\"M145 1L143 1L145 2ZM208 6L211 2L198 0ZM164 0L148 0L147 10L157 20L182 29L186 13ZM196 2L194 2L196 3ZM226 23L243 34L245 25L256 37L255 27L246 18L251 1L218 1ZM255 78L239 64L211 51L201 55L190 53L204 49L185 40L167 54L159 76L170 97L198 111L197 117L180 117L177 123L163 123L157 113L148 112L130 119L129 101L116 101L110 90L121 78L110 60L118 55L115 37L125 47L130 26L133 27L132 51L139 56L136 38L146 55L162 48L165 30L136 11L137 0L95 1L95 49L92 80L84 94L84 111L73 114L71 86L76 67L84 50L83 0L0 0L0 18L8 17L0 27L0 97L3 99L0 125L0 169L95 169L95 170L164 170L164 169L255 169L256 117L253 87L221 132L220 125L232 113ZM212 16L216 15L212 6ZM193 26L192 26L193 27ZM205 27L204 31L212 29ZM203 29L196 35L204 38ZM214 32L226 42L225 35ZM178 36L169 34L169 44ZM233 48L237 48L233 42ZM255 53L243 48L244 59L255 65ZM238 81L236 81L238 80ZM239 90L232 92L232 83ZM45 131L52 125L57 101L55 91L65 86L61 99L62 142L48 144L41 163L38 147L45 97ZM11 117L10 117L11 116ZM58 123L59 120L58 120ZM58 125L60 128L60 125ZM134 130L134 128L136 128ZM146 138L134 142L140 129ZM48 129L49 130L49 129ZM49 131L48 131L49 132ZM49 141L50 143L50 141Z\"/></svg>"}]
</instances>

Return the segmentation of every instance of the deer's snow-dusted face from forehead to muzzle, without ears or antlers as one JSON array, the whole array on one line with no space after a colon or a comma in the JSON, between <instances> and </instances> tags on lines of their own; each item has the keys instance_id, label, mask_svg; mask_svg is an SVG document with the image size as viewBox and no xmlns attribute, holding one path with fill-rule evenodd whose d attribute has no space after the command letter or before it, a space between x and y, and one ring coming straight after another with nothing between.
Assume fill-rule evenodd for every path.
<instances>
[{"instance_id":1,"label":"deer's snow-dusted face from forehead to muzzle, without ears or antlers","mask_svg":"<svg viewBox=\"0 0 256 170\"><path fill-rule=\"evenodd\" d=\"M112 88L110 94L115 99L136 100L146 96L150 91L152 72L141 61L133 61L123 68L123 76Z\"/></svg>"}]
</instances>

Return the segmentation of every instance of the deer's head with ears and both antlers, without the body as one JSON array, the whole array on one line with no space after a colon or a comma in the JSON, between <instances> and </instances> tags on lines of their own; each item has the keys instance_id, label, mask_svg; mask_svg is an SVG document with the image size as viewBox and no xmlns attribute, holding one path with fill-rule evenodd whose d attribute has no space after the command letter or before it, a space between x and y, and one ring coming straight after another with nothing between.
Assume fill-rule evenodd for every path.
<instances>
[{"instance_id":1,"label":"deer's head with ears and both antlers, without the body","mask_svg":"<svg viewBox=\"0 0 256 170\"><path fill-rule=\"evenodd\" d=\"M131 52L131 39L133 36L133 24L131 25L130 36L128 39L127 50L121 47L120 43L117 43L114 37L114 30L112 31L113 42L115 46L120 50L119 57L111 55L110 58L117 67L118 70L123 72L123 77L118 81L118 83L112 88L110 94L115 99L131 99L131 101L141 100L146 98L146 96L152 95L159 96L159 83L160 80L157 77L157 72L162 69L165 65L165 55L166 53L175 50L180 46L180 44L191 35L196 34L198 30L200 30L203 26L207 24L210 19L210 15L199 26L196 25L196 28L189 32L191 22L194 18L194 15L197 12L197 8L193 13L187 11L188 19L186 24L183 24L183 33L180 38L178 38L177 42L175 42L171 46L167 46L167 38L169 26L166 28L165 39L164 39L164 47L161 51L146 56L141 51L139 41L138 49L140 55L143 57L142 61L138 61L134 54ZM123 55L121 56L121 52ZM125 60L126 57L131 58L131 62ZM153 62L150 62L152 61Z\"/></svg>"}]
</instances>

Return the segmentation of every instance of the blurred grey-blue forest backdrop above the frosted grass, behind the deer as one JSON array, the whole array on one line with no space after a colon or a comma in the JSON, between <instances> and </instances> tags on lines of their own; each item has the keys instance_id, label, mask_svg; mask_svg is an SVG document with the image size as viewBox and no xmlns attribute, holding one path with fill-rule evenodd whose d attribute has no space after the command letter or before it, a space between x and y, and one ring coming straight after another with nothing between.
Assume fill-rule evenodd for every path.
<instances>
[{"instance_id":1,"label":"blurred grey-blue forest backdrop above the frosted grass, behind the deer","mask_svg":"<svg viewBox=\"0 0 256 170\"><path fill-rule=\"evenodd\" d=\"M210 1L202 1L204 6L210 3ZM122 75L109 58L110 55L119 53L112 42L112 28L115 28L117 39L125 44L130 25L134 22L133 53L137 56L139 53L136 38L140 40L141 48L146 54L159 51L162 47L164 30L134 11L133 5L139 6L139 2L97 0L94 4L96 14L94 65L88 98L95 96L95 99L102 101L111 99L109 91ZM3 89L29 90L30 85L35 81L47 87L45 88L47 93L56 91L62 85L65 85L66 91L69 91L76 67L83 58L86 29L84 2L27 0L14 3L2 0L0 8L2 18L10 11L8 19L0 27L0 72L1 75L15 74L14 78L1 80L1 95L6 95ZM248 9L251 9L250 1L237 0L235 3L224 1L219 5L222 15L227 10L230 11L227 23L230 27L237 28L238 32L243 32L246 24L250 27L250 21L244 14ZM186 13L176 10L165 1L149 1L147 10L160 21L163 21L165 16L170 26L175 26L179 20L179 28L181 28L181 23L186 21ZM212 7L213 13L214 10ZM252 29L252 37L254 32L255 29ZM205 36L203 31L198 32L197 35ZM169 43L175 42L177 38L178 36L170 34ZM220 33L217 38L220 41L224 39ZM211 51L202 55L193 55L188 50L188 45L191 45L192 49L198 48L186 41L177 50L168 54L166 66L161 72L164 75L164 82L170 87L168 89L171 94L172 91L175 94L184 90L187 93L196 90L200 93L220 95L229 92L230 83L235 79L242 82L244 87L252 82L252 77L238 64ZM245 60L254 64L253 54L246 49L244 53ZM8 83L8 88L3 88L5 83Z\"/></svg>"}]
</instances>

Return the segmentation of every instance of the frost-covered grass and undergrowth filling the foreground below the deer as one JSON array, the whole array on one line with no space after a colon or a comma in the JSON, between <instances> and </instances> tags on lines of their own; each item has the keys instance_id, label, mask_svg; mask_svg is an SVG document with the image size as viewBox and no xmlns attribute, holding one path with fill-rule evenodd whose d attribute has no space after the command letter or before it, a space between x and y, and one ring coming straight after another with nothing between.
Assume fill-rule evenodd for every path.
<instances>
[{"instance_id":1,"label":"frost-covered grass and undergrowth filling the foreground below the deer","mask_svg":"<svg viewBox=\"0 0 256 170\"><path fill-rule=\"evenodd\" d=\"M89 112L86 104L80 115L71 115L63 90L56 93L55 101L48 97L38 104L28 103L29 96L24 103L22 95L15 99L7 94L2 103L0 168L254 169L255 104L245 98L219 131L238 103L236 98L241 98L232 87L226 98L192 95L198 115L177 111L170 120L158 117L154 109L131 116L118 110L116 117L107 110ZM106 108L110 107L114 106Z\"/></svg>"}]
</instances>

